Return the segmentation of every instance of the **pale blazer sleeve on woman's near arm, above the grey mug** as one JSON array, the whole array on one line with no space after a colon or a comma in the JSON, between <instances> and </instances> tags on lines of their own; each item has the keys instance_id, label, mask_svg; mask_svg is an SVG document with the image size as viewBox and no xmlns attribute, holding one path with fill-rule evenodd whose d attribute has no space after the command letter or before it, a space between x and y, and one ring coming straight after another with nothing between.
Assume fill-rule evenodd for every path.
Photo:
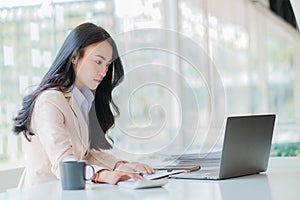
<instances>
[{"instance_id":1,"label":"pale blazer sleeve on woman's near arm, above the grey mug","mask_svg":"<svg viewBox=\"0 0 300 200\"><path fill-rule=\"evenodd\" d=\"M63 111L58 106L66 101L61 95L43 95L35 104L31 125L51 162L51 171L59 177L59 162L78 160L66 129Z\"/></svg>"}]
</instances>

